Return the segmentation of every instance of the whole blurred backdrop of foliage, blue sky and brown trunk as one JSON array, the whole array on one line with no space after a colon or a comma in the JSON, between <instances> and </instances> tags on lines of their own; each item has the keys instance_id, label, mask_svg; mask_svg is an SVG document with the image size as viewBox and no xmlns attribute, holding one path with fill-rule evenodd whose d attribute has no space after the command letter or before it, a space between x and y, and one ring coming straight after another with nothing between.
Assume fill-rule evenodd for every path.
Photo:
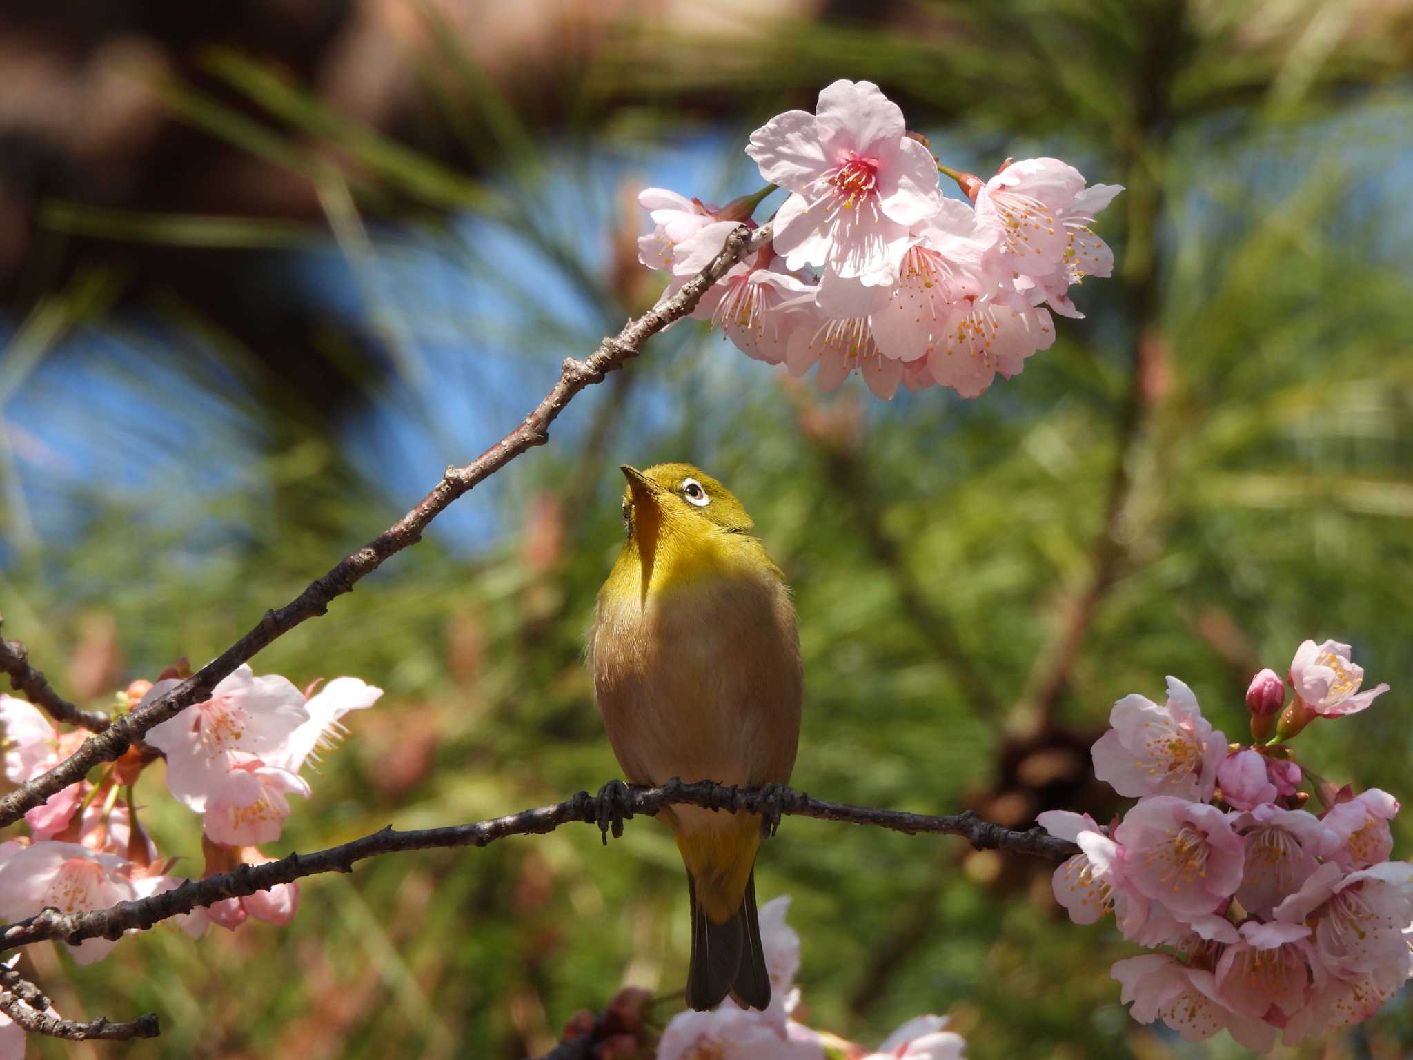
<instances>
[{"instance_id":1,"label":"whole blurred backdrop of foliage, blue sky and brown trunk","mask_svg":"<svg viewBox=\"0 0 1413 1060\"><path fill-rule=\"evenodd\" d=\"M651 302L640 187L753 191L750 130L866 78L950 165L1126 185L1088 318L978 401L821 399L701 325L660 336L254 660L387 690L268 852L615 776L582 643L616 466L667 459L728 482L794 585L814 794L1112 813L1084 772L1113 700L1174 673L1239 738L1251 674L1304 637L1393 691L1301 759L1413 794L1410 59L1405 0L10 6L6 635L92 704L212 657ZM198 872L160 767L138 793ZM808 1022L851 1039L945 1012L978 1060L1241 1052L1133 1023L1108 967L1135 950L1057 916L1039 862L787 820L757 886L794 896ZM622 984L678 991L687 931L650 821L386 858L307 881L287 930L35 951L66 1016L165 1030L31 1053L523 1057ZM1409 1042L1405 992L1277 1054Z\"/></svg>"}]
</instances>

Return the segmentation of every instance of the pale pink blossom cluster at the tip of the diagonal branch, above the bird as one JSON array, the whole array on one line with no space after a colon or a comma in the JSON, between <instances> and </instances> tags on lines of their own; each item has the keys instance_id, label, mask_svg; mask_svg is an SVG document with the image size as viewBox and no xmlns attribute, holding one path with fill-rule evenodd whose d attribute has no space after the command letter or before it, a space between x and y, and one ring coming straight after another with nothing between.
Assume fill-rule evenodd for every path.
<instances>
[{"instance_id":1,"label":"pale pink blossom cluster at the tip of the diagonal branch, above the bird","mask_svg":"<svg viewBox=\"0 0 1413 1060\"><path fill-rule=\"evenodd\" d=\"M1089 225L1122 188L1085 187L1057 158L1007 163L989 181L938 164L903 112L868 81L836 81L815 113L757 129L746 154L790 196L771 240L698 302L750 358L815 370L821 390L851 373L890 399L950 386L976 397L1054 342L1051 311L1082 317L1070 287L1113 271ZM948 172L971 204L944 198ZM701 271L757 196L725 208L649 188L653 232L639 260L671 273L667 294Z\"/></svg>"}]
</instances>

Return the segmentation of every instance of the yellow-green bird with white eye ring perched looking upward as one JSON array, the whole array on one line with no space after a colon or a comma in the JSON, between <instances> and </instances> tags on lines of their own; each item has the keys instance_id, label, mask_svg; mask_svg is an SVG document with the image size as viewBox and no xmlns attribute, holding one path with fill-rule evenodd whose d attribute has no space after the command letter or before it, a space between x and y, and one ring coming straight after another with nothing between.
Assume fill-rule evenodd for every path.
<instances>
[{"instance_id":1,"label":"yellow-green bird with white eye ring perched looking upward","mask_svg":"<svg viewBox=\"0 0 1413 1060\"><path fill-rule=\"evenodd\" d=\"M630 783L784 784L800 742L790 589L740 502L690 464L623 466L627 540L599 591L589 659ZM757 814L663 810L687 864L687 1003L770 1003L756 920Z\"/></svg>"}]
</instances>

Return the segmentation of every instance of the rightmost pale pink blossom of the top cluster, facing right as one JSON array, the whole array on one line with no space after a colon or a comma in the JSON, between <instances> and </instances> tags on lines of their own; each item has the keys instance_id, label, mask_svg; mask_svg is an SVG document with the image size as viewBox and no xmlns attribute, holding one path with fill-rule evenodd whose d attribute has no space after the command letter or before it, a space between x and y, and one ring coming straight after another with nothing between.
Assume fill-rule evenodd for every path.
<instances>
[{"instance_id":1,"label":"rightmost pale pink blossom of the top cluster, facing right","mask_svg":"<svg viewBox=\"0 0 1413 1060\"><path fill-rule=\"evenodd\" d=\"M976 216L996 229L989 269L1019 304L1048 300L1061 315L1082 317L1067 288L1085 276L1112 276L1113 252L1089 225L1121 191L1085 188L1080 171L1058 158L1012 163L976 194Z\"/></svg>"}]
</instances>

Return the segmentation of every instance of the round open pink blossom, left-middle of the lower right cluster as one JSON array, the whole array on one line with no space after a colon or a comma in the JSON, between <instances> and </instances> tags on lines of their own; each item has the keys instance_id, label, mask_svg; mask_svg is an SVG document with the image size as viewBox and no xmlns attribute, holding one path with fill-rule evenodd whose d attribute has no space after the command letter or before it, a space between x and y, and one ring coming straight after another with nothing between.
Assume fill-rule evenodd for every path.
<instances>
[{"instance_id":1,"label":"round open pink blossom, left-middle of the lower right cluster","mask_svg":"<svg viewBox=\"0 0 1413 1060\"><path fill-rule=\"evenodd\" d=\"M1242 841L1215 806L1147 796L1113 838L1125 878L1178 920L1214 912L1241 886Z\"/></svg>"}]
</instances>

